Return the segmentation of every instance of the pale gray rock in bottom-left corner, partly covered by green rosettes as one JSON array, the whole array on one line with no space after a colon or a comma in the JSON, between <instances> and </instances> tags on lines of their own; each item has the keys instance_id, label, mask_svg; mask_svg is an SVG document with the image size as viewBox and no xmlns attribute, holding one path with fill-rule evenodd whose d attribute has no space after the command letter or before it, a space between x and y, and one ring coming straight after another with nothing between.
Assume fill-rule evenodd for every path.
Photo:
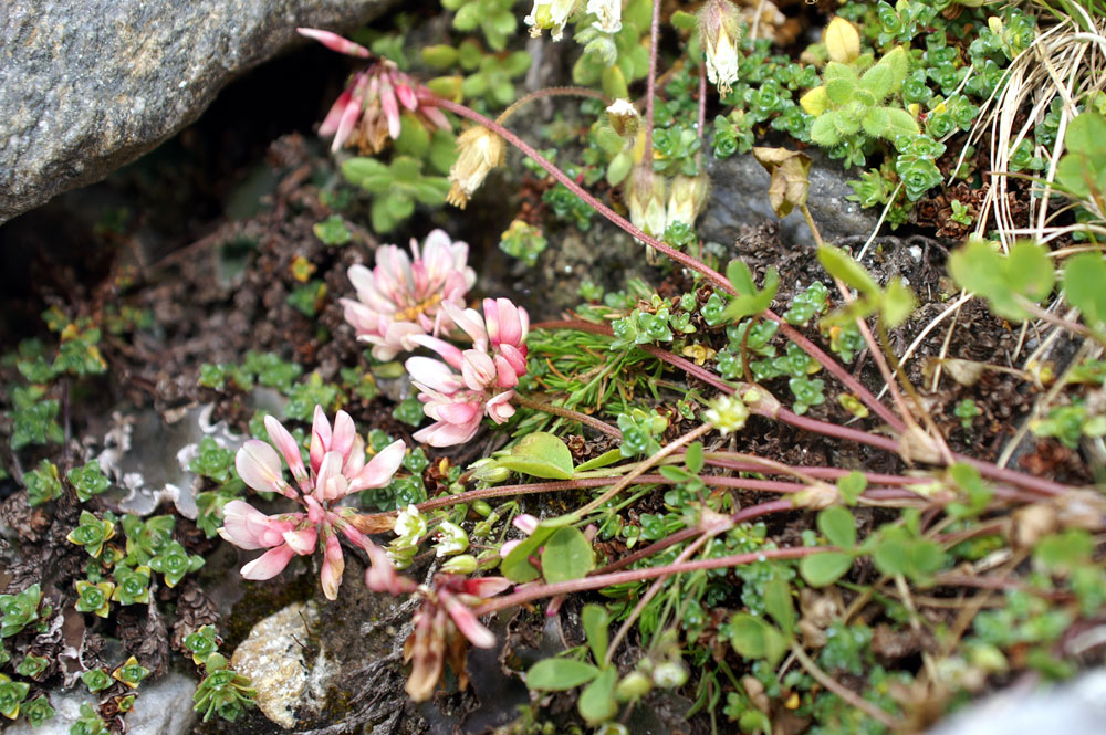
<instances>
[{"instance_id":1,"label":"pale gray rock in bottom-left corner, partly covered by green rosettes","mask_svg":"<svg viewBox=\"0 0 1106 735\"><path fill-rule=\"evenodd\" d=\"M192 694L196 681L179 673L170 673L153 684L143 684L135 700L135 711L127 715L129 735L185 735L196 721L192 712ZM21 718L8 726L6 735L67 735L70 727L81 716L81 704L95 706L84 684L64 694L53 692L50 704L55 711L38 729L32 729L27 720Z\"/></svg>"}]
</instances>

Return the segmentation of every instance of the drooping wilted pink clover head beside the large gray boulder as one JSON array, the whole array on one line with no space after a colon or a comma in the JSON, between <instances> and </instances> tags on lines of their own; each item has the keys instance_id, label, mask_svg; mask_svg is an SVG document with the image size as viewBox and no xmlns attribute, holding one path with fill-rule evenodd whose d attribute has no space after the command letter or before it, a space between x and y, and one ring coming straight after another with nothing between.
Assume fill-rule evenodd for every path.
<instances>
[{"instance_id":1,"label":"drooping wilted pink clover head beside the large gray boulder","mask_svg":"<svg viewBox=\"0 0 1106 735\"><path fill-rule=\"evenodd\" d=\"M312 28L299 28L301 35L315 39L331 51L369 59L372 53L347 39ZM434 105L434 93L399 71L393 62L382 59L367 70L354 74L348 86L331 106L319 127L319 135L334 136L331 150L344 145L362 153L379 153L388 138L399 137L400 105L420 123L442 130L451 129L449 119Z\"/></svg>"}]
</instances>

